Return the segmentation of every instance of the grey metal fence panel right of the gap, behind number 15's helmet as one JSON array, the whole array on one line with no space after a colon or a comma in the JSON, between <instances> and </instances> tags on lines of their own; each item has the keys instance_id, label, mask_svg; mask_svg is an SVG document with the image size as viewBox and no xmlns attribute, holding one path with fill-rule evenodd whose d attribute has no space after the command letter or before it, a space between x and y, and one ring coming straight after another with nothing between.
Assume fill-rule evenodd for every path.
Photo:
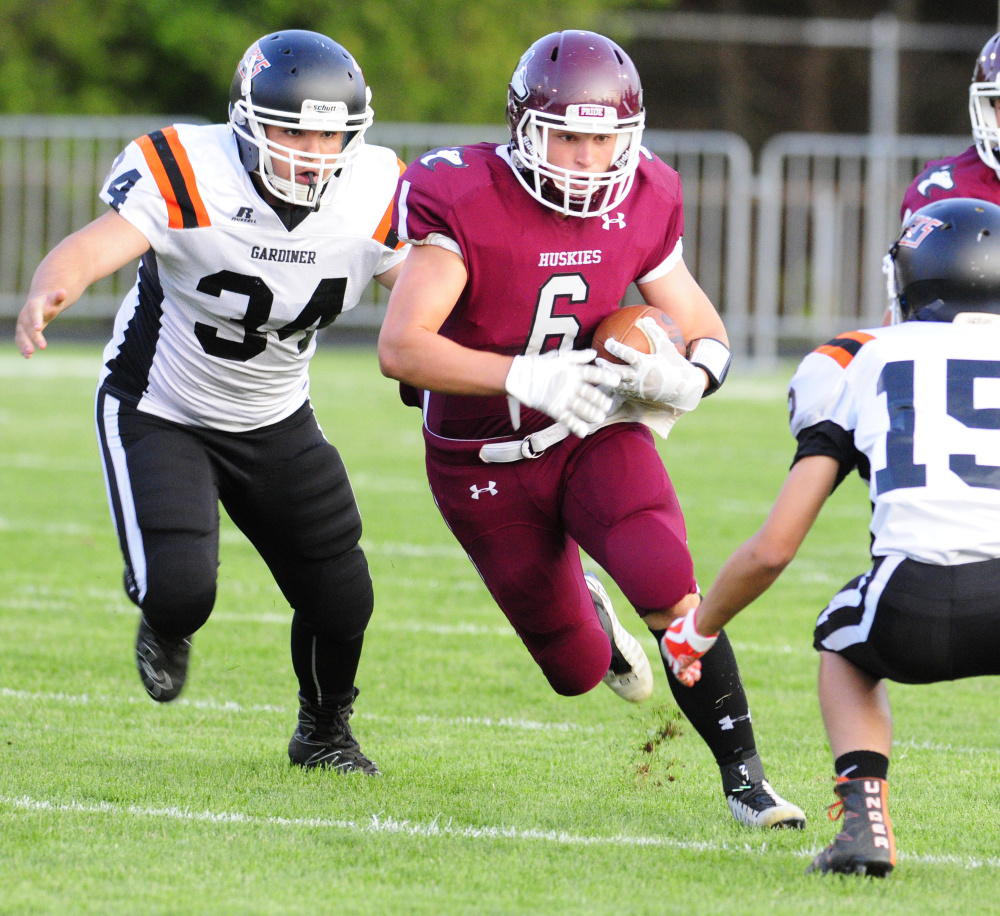
<instances>
[{"instance_id":1,"label":"grey metal fence panel right of the gap, behind number 15's helmet","mask_svg":"<svg viewBox=\"0 0 1000 916\"><path fill-rule=\"evenodd\" d=\"M968 137L783 134L761 151L751 352L782 351L876 325L882 258L907 186Z\"/></svg>"}]
</instances>

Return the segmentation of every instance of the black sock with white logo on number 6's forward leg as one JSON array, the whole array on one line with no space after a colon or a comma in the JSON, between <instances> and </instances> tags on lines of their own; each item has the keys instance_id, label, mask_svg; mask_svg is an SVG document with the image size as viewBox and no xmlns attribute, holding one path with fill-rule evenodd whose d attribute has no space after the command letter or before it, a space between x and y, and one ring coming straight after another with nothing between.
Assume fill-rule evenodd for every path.
<instances>
[{"instance_id":1,"label":"black sock with white logo on number 6's forward leg","mask_svg":"<svg viewBox=\"0 0 1000 916\"><path fill-rule=\"evenodd\" d=\"M666 630L651 629L650 632L659 646ZM720 767L747 760L756 752L740 669L724 630L711 651L702 657L701 679L694 687L685 687L678 681L665 658L663 668L674 700Z\"/></svg>"}]
</instances>

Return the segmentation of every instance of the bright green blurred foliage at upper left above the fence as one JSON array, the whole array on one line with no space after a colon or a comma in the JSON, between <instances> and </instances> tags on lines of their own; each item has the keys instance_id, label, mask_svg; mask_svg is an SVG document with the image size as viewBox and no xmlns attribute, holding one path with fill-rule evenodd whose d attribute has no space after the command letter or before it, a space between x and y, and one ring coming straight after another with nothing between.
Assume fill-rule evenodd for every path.
<instances>
[{"instance_id":1,"label":"bright green blurred foliage at upper left above the fence","mask_svg":"<svg viewBox=\"0 0 1000 916\"><path fill-rule=\"evenodd\" d=\"M225 119L247 47L279 29L343 44L387 121L489 123L535 39L673 0L0 0L0 112Z\"/></svg>"}]
</instances>

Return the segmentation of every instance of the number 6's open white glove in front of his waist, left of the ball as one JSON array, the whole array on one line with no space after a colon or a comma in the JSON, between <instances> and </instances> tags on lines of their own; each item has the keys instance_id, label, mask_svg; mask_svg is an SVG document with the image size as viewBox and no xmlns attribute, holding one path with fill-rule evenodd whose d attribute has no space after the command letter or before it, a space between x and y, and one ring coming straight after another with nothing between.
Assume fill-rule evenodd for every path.
<instances>
[{"instance_id":1,"label":"number 6's open white glove in front of his waist, left of the ball","mask_svg":"<svg viewBox=\"0 0 1000 916\"><path fill-rule=\"evenodd\" d=\"M621 381L614 369L587 365L596 355L594 350L553 350L540 356L515 356L507 373L507 393L526 407L547 413L582 439L590 424L603 423L611 410L611 398L597 386L614 388Z\"/></svg>"}]
</instances>

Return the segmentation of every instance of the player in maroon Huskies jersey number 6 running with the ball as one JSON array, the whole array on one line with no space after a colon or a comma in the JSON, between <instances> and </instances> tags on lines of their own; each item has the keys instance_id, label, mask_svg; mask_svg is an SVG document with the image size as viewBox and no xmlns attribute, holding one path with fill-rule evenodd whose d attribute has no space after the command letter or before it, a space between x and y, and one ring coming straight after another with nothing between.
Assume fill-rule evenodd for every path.
<instances>
[{"instance_id":1,"label":"player in maroon Huskies jersey number 6 running with the ball","mask_svg":"<svg viewBox=\"0 0 1000 916\"><path fill-rule=\"evenodd\" d=\"M697 606L684 518L650 429L723 382L725 328L682 257L677 173L641 146L642 89L614 42L567 31L535 42L508 87L509 143L434 150L397 189L394 229L414 247L390 296L382 371L424 416L431 490L449 528L558 693L607 683L649 696L642 646L580 548L659 641ZM650 354L594 329L630 283L689 343L651 319ZM721 644L721 649L718 645ZM667 669L749 826L802 827L765 779L732 648L699 684Z\"/></svg>"}]
</instances>

